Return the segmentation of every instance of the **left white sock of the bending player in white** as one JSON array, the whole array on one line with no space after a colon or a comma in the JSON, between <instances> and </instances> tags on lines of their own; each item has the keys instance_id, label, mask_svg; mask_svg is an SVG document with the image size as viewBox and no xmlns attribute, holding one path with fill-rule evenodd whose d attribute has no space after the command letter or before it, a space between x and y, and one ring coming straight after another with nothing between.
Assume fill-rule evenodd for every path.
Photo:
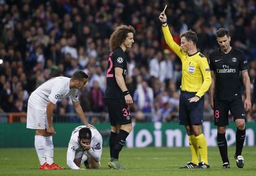
<instances>
[{"instance_id":1,"label":"left white sock of the bending player in white","mask_svg":"<svg viewBox=\"0 0 256 176\"><path fill-rule=\"evenodd\" d=\"M46 155L45 155L45 137L35 135L35 149L40 162L40 165L45 164Z\"/></svg>"}]
</instances>

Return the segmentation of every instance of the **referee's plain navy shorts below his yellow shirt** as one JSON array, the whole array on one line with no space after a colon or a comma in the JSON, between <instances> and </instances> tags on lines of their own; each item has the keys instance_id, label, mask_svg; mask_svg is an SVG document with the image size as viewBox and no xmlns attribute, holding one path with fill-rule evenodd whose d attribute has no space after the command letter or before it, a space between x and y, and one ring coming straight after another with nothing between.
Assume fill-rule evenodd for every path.
<instances>
[{"instance_id":1,"label":"referee's plain navy shorts below his yellow shirt","mask_svg":"<svg viewBox=\"0 0 256 176\"><path fill-rule=\"evenodd\" d=\"M196 93L181 91L179 96L179 124L198 125L203 122L204 97L197 102L189 103L189 98L193 98Z\"/></svg>"}]
</instances>

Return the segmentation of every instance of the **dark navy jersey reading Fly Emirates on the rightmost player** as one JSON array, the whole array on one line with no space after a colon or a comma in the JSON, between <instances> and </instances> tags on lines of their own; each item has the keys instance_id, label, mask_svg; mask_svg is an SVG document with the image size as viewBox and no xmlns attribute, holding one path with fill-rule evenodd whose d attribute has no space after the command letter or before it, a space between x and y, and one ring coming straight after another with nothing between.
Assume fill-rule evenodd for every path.
<instances>
[{"instance_id":1,"label":"dark navy jersey reading Fly Emirates on the rightmost player","mask_svg":"<svg viewBox=\"0 0 256 176\"><path fill-rule=\"evenodd\" d=\"M210 70L215 72L215 98L231 100L241 98L239 73L248 68L244 52L232 48L227 54L216 49L210 53Z\"/></svg>"}]
</instances>

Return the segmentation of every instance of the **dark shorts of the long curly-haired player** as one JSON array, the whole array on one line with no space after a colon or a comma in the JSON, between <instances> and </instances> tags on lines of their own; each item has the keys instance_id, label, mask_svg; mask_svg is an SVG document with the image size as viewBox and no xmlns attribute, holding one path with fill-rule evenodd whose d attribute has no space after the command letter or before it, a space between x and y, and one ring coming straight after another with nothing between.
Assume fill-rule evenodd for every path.
<instances>
[{"instance_id":1,"label":"dark shorts of the long curly-haired player","mask_svg":"<svg viewBox=\"0 0 256 176\"><path fill-rule=\"evenodd\" d=\"M108 107L111 126L126 125L132 123L130 109L124 99L104 99Z\"/></svg>"}]
</instances>

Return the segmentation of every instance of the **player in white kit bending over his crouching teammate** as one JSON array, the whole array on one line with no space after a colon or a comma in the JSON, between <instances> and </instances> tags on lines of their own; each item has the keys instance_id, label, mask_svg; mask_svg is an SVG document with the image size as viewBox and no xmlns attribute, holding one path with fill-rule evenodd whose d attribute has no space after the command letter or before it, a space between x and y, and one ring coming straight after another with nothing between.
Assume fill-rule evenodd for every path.
<instances>
[{"instance_id":1,"label":"player in white kit bending over his crouching teammate","mask_svg":"<svg viewBox=\"0 0 256 176\"><path fill-rule=\"evenodd\" d=\"M53 109L58 99L70 97L83 124L90 126L79 104L78 90L85 86L88 75L77 70L71 78L54 77L36 88L28 99L27 128L35 130L35 149L39 169L62 169L53 161Z\"/></svg>"}]
</instances>

